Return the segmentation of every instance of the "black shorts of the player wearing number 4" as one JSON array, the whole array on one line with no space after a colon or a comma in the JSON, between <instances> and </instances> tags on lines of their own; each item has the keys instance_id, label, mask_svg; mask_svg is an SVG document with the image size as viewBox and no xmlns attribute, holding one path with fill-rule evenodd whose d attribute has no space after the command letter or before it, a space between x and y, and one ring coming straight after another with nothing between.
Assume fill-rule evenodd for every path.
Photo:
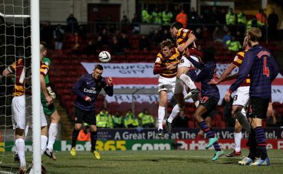
<instances>
[{"instance_id":1,"label":"black shorts of the player wearing number 4","mask_svg":"<svg viewBox=\"0 0 283 174\"><path fill-rule=\"evenodd\" d=\"M265 119L267 116L268 98L250 97L247 117Z\"/></svg>"}]
</instances>

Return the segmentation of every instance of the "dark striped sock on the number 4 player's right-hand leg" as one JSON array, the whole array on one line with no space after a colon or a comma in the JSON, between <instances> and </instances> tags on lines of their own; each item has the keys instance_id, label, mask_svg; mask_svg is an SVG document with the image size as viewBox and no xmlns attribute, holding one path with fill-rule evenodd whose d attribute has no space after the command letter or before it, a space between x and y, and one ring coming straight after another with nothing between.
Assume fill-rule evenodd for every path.
<instances>
[{"instance_id":1,"label":"dark striped sock on the number 4 player's right-hand leg","mask_svg":"<svg viewBox=\"0 0 283 174\"><path fill-rule=\"evenodd\" d=\"M261 159L267 158L267 141L265 139L265 130L261 126L254 128L254 134L256 136L256 143L258 150L260 151Z\"/></svg>"}]
</instances>

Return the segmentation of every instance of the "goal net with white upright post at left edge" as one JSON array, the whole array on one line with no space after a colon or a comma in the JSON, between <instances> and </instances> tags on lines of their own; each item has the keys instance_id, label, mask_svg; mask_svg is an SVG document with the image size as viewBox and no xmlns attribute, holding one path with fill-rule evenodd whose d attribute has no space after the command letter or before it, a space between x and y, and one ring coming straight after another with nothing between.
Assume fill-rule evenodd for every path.
<instances>
[{"instance_id":1,"label":"goal net with white upright post at left edge","mask_svg":"<svg viewBox=\"0 0 283 174\"><path fill-rule=\"evenodd\" d=\"M38 0L35 2L33 0L0 1L0 73L2 75L4 70L12 68L13 63L16 63L15 67L18 68L18 70L22 69L22 73L19 73L17 70L9 71L9 75L4 74L0 78L0 173L16 173L20 168L20 162L18 162L16 155L16 137L13 129L14 121L12 121L12 118L15 115L12 112L12 98L16 95L21 95L21 88L16 88L16 86L18 85L18 82L20 82L25 88L25 92L27 90L32 90L32 93L40 93L40 86L33 84L33 81L37 79L38 83L36 84L39 84L40 61L39 58L33 59L33 56L31 56L33 55L32 53L34 53L31 44L36 45L36 42L31 40L31 38L33 38L31 35L31 31L33 31L31 29L33 23L32 20L34 21L34 18L32 19L31 17L31 5L36 4L35 7L38 7ZM36 20L39 20L39 17L36 17ZM39 28L39 24L36 27ZM37 45L39 57L39 36ZM23 63L17 64L19 59L21 59ZM36 66L33 65L33 61L37 62L35 64ZM35 71L33 68L36 68L38 72L34 73ZM31 73L27 73L28 70L31 70ZM33 92L34 90L36 90L36 92ZM32 113L35 115L40 110L37 109L38 111L35 111L34 109L34 107L38 107L37 104L34 106L34 101L38 100L38 97L32 96L31 98L29 95L24 96L26 113L25 124L29 125L29 130L31 130L32 122L33 124L35 123ZM38 123L36 123L36 126L37 124ZM37 159L34 159L34 154L38 151L37 149L34 149L34 143L31 143L32 141L38 142L38 140L35 140L33 137L34 132L38 135L40 129L34 129L33 127L33 132L29 131L25 136L25 160L27 168L31 166L32 163L34 164L35 161L38 162L38 158L41 160L40 156ZM40 150L40 142L38 144ZM38 148L38 145L36 147ZM36 169L38 165L39 164L34 164L33 171L40 171L40 168Z\"/></svg>"}]
</instances>

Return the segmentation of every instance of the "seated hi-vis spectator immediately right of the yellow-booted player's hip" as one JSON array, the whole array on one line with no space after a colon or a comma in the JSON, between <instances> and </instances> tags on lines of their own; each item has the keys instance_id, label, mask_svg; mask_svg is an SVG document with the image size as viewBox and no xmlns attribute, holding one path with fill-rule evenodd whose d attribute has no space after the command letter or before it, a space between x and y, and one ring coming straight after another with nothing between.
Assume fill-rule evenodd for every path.
<instances>
[{"instance_id":1,"label":"seated hi-vis spectator immediately right of the yellow-booted player's hip","mask_svg":"<svg viewBox=\"0 0 283 174\"><path fill-rule=\"evenodd\" d=\"M111 115L106 108L103 108L98 115L96 115L96 127L97 128L113 128L113 121Z\"/></svg>"}]
</instances>

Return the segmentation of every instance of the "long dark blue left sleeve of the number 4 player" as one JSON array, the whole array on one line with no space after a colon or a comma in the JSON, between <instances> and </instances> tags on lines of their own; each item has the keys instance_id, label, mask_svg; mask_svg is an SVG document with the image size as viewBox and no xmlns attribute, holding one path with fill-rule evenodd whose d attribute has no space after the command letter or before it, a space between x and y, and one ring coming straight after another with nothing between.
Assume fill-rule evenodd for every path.
<instances>
[{"instance_id":1,"label":"long dark blue left sleeve of the number 4 player","mask_svg":"<svg viewBox=\"0 0 283 174\"><path fill-rule=\"evenodd\" d=\"M251 51L247 51L247 53L245 53L245 59L243 59L243 63L241 63L241 66L239 67L238 78L229 88L230 93L236 91L236 89L240 87L245 78L249 75L253 63L253 54Z\"/></svg>"}]
</instances>

